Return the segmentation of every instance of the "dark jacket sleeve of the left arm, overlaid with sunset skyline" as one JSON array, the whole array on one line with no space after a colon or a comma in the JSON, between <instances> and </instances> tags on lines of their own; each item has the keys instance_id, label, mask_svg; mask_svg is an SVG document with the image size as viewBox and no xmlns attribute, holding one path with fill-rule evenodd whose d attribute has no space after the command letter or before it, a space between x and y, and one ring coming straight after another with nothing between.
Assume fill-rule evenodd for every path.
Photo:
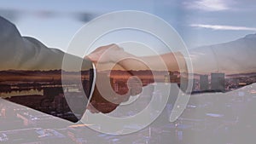
<instances>
[{"instance_id":1,"label":"dark jacket sleeve of the left arm, overlaid with sunset skyline","mask_svg":"<svg viewBox=\"0 0 256 144\"><path fill-rule=\"evenodd\" d=\"M63 89L68 89L68 86L64 87L61 81L64 55L73 62L83 61L82 77L80 72L64 72L70 75L69 78L73 78L67 79L67 83L75 85L75 89L80 89L79 92L64 94ZM83 116L90 96L91 78L94 77L92 69L90 60L65 54L59 49L49 49L32 37L21 37L16 26L0 16L0 75L2 75L0 97L40 112L77 122ZM81 80L83 85L73 84ZM10 81L15 81L16 84L11 87ZM24 89L38 89L42 94L3 95L4 92ZM83 96L84 93L86 96Z\"/></svg>"}]
</instances>

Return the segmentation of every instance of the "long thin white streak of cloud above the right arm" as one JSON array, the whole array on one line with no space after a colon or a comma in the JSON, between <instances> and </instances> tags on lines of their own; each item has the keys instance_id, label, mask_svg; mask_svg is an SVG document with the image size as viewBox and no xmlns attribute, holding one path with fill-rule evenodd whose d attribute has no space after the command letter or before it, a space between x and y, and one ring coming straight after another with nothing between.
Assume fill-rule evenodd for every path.
<instances>
[{"instance_id":1,"label":"long thin white streak of cloud above the right arm","mask_svg":"<svg viewBox=\"0 0 256 144\"><path fill-rule=\"evenodd\" d=\"M247 26L223 26L223 25L203 25L203 24L192 24L190 26L207 28L212 30L256 31L256 27L247 27Z\"/></svg>"}]
</instances>

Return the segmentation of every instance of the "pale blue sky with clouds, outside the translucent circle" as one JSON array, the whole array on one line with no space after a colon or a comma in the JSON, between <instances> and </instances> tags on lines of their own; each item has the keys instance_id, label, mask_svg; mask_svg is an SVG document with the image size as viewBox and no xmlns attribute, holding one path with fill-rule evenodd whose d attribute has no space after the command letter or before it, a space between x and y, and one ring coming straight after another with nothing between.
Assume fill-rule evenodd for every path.
<instances>
[{"instance_id":1,"label":"pale blue sky with clouds, outside the translucent circle","mask_svg":"<svg viewBox=\"0 0 256 144\"><path fill-rule=\"evenodd\" d=\"M66 51L86 22L117 10L155 14L178 32L189 49L224 43L256 33L253 0L0 0L0 15L22 36L36 37Z\"/></svg>"}]
</instances>

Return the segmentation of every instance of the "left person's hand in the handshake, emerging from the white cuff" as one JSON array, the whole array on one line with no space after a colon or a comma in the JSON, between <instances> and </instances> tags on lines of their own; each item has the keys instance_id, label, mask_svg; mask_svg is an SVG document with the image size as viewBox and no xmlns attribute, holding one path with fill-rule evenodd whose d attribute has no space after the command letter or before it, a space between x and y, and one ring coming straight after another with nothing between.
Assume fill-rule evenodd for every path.
<instances>
[{"instance_id":1,"label":"left person's hand in the handshake, emerging from the white cuff","mask_svg":"<svg viewBox=\"0 0 256 144\"><path fill-rule=\"evenodd\" d=\"M131 72L118 64L119 58L125 58L125 56L124 49L116 44L110 44L94 50L85 57L96 65L97 70L96 87L87 107L90 112L112 112L121 102L128 101L131 95L138 95L142 92L143 86L139 79L131 78ZM115 70L119 70L124 76L117 82L113 82ZM119 87L119 89L114 89L114 87Z\"/></svg>"}]
</instances>

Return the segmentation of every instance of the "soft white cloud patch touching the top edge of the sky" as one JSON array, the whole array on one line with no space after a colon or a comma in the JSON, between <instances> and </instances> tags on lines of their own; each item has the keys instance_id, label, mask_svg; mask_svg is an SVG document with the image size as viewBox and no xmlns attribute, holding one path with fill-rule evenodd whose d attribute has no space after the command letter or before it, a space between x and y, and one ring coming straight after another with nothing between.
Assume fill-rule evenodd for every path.
<instances>
[{"instance_id":1,"label":"soft white cloud patch touching the top edge of the sky","mask_svg":"<svg viewBox=\"0 0 256 144\"><path fill-rule=\"evenodd\" d=\"M204 11L222 11L230 9L230 0L196 0L194 2L184 2L189 9L200 9Z\"/></svg>"}]
</instances>

